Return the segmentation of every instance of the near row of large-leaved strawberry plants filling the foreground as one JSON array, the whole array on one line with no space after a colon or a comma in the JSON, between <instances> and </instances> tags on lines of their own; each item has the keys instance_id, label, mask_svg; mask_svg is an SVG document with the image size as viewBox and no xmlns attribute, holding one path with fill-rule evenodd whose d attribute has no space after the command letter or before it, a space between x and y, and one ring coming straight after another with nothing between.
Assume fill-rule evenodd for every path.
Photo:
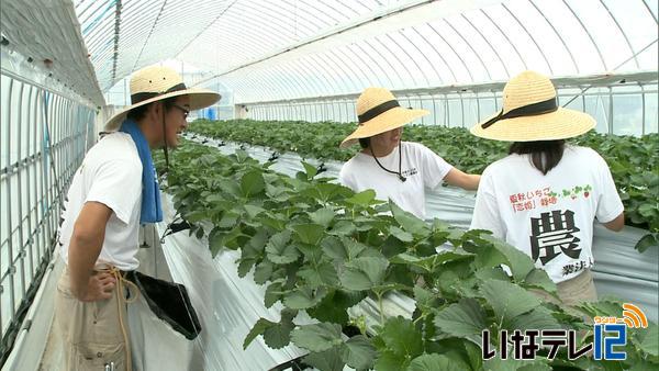
<instances>
[{"instance_id":1,"label":"near row of large-leaved strawberry plants filling the foreground","mask_svg":"<svg viewBox=\"0 0 659 371\"><path fill-rule=\"evenodd\" d=\"M190 233L208 238L213 256L239 249L239 276L253 271L254 281L266 285L266 307L282 305L279 322L254 324L245 348L258 336L273 349L292 342L309 350L304 362L320 370L606 367L591 358L570 361L563 353L554 360L482 360L483 329L592 329L535 296L529 290L555 294L556 285L526 255L484 231L463 232L438 220L428 224L375 200L372 191L354 193L331 183L308 165L290 178L242 150L223 156L190 143L174 153L172 162L165 188L193 225ZM159 155L156 164L161 166ZM445 244L451 250L437 252ZM383 311L393 292L415 300L411 317ZM359 322L348 310L366 297L378 303L377 325L347 336L345 326ZM583 311L600 314L614 305L600 302ZM317 323L297 324L300 312ZM617 367L656 367L656 331L655 324L630 331L630 356Z\"/></svg>"}]
</instances>

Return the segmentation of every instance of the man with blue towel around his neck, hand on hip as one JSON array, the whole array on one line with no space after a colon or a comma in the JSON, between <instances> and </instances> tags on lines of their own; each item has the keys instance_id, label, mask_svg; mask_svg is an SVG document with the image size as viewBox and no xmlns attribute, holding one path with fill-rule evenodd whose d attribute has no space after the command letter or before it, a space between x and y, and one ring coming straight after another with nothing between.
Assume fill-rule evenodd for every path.
<instances>
[{"instance_id":1,"label":"man with blue towel around his neck, hand on hip","mask_svg":"<svg viewBox=\"0 0 659 371\"><path fill-rule=\"evenodd\" d=\"M122 276L137 268L138 227L163 220L150 149L178 145L191 110L220 95L186 88L170 68L131 78L131 105L105 125L68 190L59 231L66 263L55 318L66 370L131 369ZM131 294L134 293L131 291Z\"/></svg>"}]
</instances>

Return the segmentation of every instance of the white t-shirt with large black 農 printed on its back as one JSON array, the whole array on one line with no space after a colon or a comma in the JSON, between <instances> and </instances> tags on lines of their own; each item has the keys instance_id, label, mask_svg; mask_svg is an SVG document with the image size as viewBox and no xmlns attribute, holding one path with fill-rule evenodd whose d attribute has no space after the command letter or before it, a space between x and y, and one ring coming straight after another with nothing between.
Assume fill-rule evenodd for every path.
<instances>
[{"instance_id":1,"label":"white t-shirt with large black \u8fb2 printed on its back","mask_svg":"<svg viewBox=\"0 0 659 371\"><path fill-rule=\"evenodd\" d=\"M510 155L483 171L471 229L492 231L558 283L593 265L593 221L613 221L623 203L608 166L591 148L566 146L546 176L529 157Z\"/></svg>"}]
</instances>

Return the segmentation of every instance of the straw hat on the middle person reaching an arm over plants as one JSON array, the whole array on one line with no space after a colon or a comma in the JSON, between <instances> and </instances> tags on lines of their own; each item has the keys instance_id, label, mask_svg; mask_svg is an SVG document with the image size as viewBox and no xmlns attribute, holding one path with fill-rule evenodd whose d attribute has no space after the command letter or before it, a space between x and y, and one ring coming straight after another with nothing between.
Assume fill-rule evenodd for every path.
<instances>
[{"instance_id":1,"label":"straw hat on the middle person reaching an arm over plants","mask_svg":"<svg viewBox=\"0 0 659 371\"><path fill-rule=\"evenodd\" d=\"M339 147L349 147L360 138L401 127L428 113L426 110L400 106L391 91L384 88L367 88L357 99L359 126L340 143Z\"/></svg>"}]
</instances>

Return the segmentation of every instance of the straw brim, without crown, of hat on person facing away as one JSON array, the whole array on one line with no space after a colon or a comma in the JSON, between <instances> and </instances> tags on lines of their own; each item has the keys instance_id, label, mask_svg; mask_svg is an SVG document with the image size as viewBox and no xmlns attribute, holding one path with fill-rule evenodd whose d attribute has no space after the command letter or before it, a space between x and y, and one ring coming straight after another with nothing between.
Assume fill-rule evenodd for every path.
<instances>
[{"instance_id":1,"label":"straw brim, without crown, of hat on person facing away","mask_svg":"<svg viewBox=\"0 0 659 371\"><path fill-rule=\"evenodd\" d=\"M589 114L559 108L550 113L501 120L482 128L481 125L495 115L471 127L471 134L503 142L558 140L584 134L595 127L595 120Z\"/></svg>"}]
</instances>

